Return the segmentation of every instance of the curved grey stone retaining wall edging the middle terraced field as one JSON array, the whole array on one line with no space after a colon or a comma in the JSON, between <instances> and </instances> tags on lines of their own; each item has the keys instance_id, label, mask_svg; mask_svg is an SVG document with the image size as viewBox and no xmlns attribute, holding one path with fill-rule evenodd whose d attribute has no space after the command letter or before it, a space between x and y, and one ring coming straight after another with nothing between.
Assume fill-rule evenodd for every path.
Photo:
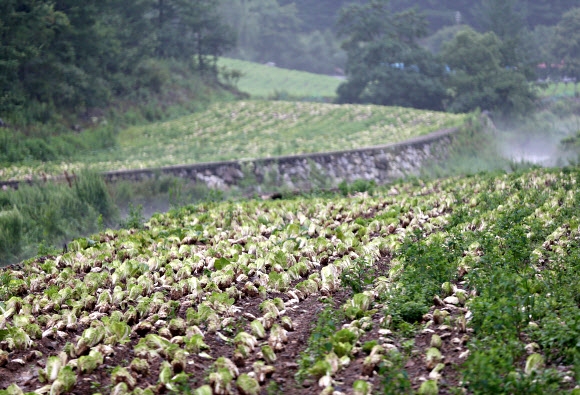
<instances>
[{"instance_id":1,"label":"curved grey stone retaining wall edging the middle terraced field","mask_svg":"<svg viewBox=\"0 0 580 395\"><path fill-rule=\"evenodd\" d=\"M402 143L363 149L275 158L198 163L158 169L119 170L103 173L108 182L142 181L170 175L226 190L232 186L284 186L291 189L335 187L341 181L374 180L384 184L416 174L427 160L443 160L457 129L444 129ZM64 181L54 177L53 181ZM18 188L22 182L0 181L0 186ZM258 190L260 187L258 187Z\"/></svg>"}]
</instances>

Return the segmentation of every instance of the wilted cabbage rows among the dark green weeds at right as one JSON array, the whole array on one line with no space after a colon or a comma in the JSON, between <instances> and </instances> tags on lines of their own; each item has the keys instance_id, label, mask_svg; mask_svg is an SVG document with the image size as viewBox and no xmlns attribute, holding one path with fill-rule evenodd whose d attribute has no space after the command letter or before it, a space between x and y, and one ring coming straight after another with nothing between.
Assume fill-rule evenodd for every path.
<instances>
[{"instance_id":1,"label":"wilted cabbage rows among the dark green weeds at right","mask_svg":"<svg viewBox=\"0 0 580 395\"><path fill-rule=\"evenodd\" d=\"M559 178L559 177L561 178ZM525 235L526 238L533 240L537 238L538 228L534 228L531 224L539 223L540 227L550 228L556 222L561 223L555 227L555 229L547 235L547 237L542 236L540 240L545 241L540 243L538 248L535 250L530 250L532 252L532 260L530 262L530 267L536 272L535 280L527 280L527 287L530 289L530 294L528 297L533 300L534 298L541 299L542 293L546 297L550 297L551 294L545 290L547 283L544 282L543 277L552 276L554 272L552 271L554 267L557 267L563 271L570 273L571 267L566 266L569 262L564 263L562 257L567 254L573 254L573 248L578 248L578 240L580 240L580 220L576 215L568 216L564 214L565 212L570 212L571 209L576 207L576 212L578 209L578 199L577 191L574 189L575 180L573 177L568 177L565 174L556 175L556 173L544 173L542 171L530 172L522 175L519 178L515 178L506 181L507 177L498 177L493 182L477 183L475 185L470 185L463 189L465 192L464 202L472 208L469 210L470 215L464 216L463 219L466 222L460 222L455 227L449 228L449 231L453 232L437 232L431 236L427 236L425 239L425 244L442 244L446 243L453 238L459 237L457 231L460 231L460 235L463 236L465 233L477 234L482 238L490 237L490 235L495 234L494 242L497 243L500 248L503 243L508 242L507 239L496 234L496 222L506 221L506 218L510 218L514 213L518 212L522 208L534 207L531 210L530 215L527 218L521 220L521 222L507 222L509 226L517 226L523 224L528 233ZM514 178L514 177L512 177ZM559 182L559 184L553 191L543 191L542 186L548 186L551 183ZM518 191L524 190L522 193ZM489 195L487 195L489 191ZM494 197L490 196L496 191L508 191L507 198L499 202L496 206L496 202L491 202ZM541 198L538 199L538 193L543 194ZM470 197L475 196L475 197ZM489 207L488 205L489 199ZM540 202L538 205L537 202ZM459 205L458 205L459 206ZM567 210L567 211L565 211ZM506 222L503 222L502 226L505 226ZM508 229L509 229L508 226ZM537 225L536 225L537 226ZM424 229L426 230L426 229ZM464 233L461 233L464 232ZM478 236L478 237L479 237ZM489 261L482 259L486 254L483 245L479 242L470 242L467 244L467 248L463 251L463 256L457 261L457 271L453 275L453 278L463 279L467 278L466 281L461 281L459 284L453 284L450 282L445 282L441 286L440 295L434 297L434 305L430 309L430 313L423 317L423 326L421 333L430 335L430 343L428 347L418 350L415 349L413 352L418 352L422 356L425 368L428 369L428 374L426 373L420 377L414 377L414 383L417 386L417 391L419 394L437 394L439 393L439 381L442 380L445 384L444 386L448 388L449 381L446 380L446 376L450 374L451 376L457 376L455 369L446 369L446 366L450 363L459 364L466 363L467 366L473 366L473 369L477 369L477 360L467 360L470 355L471 347L477 349L477 343L470 342L471 336L467 333L473 333L473 329L468 327L470 320L473 318L473 313L469 309L470 301L477 296L477 291L469 279L477 278L475 276L466 276L468 273L483 273L484 270L489 270ZM489 248L489 247L487 247ZM490 254L491 255L491 254ZM489 258L488 258L489 259ZM516 265L527 265L526 262L515 263ZM493 267L493 266L492 266ZM404 283L398 281L398 274L404 270L404 266L397 262L396 260L391 261L391 269L389 270L388 277L379 277L374 282L374 287L363 293L354 295L347 303L343 306L343 310L346 313L347 318L353 319L357 317L356 312L364 312L369 309L381 309L381 303L389 303L388 297L385 301L385 295L388 295L389 289L405 287ZM492 269L493 270L493 269ZM522 270L522 269L520 269ZM525 269L524 269L525 270ZM563 274L565 275L565 274ZM560 276L561 277L561 276ZM544 288L543 292L540 290ZM468 291L471 289L470 291ZM376 300L377 296L382 296L382 300ZM510 297L511 295L496 295L497 298ZM577 299L578 300L578 299ZM500 299L501 301L501 299ZM566 304L565 301L562 304ZM489 302L486 302L489 303ZM558 303L556 300L550 302L553 306ZM501 304L501 302L500 302ZM491 303L490 303L491 305ZM369 307L370 306L370 307ZM524 307L522 307L524 308ZM525 311L525 310L523 310ZM352 314L352 316L350 314ZM486 314L485 311L478 310L477 314ZM354 383L354 393L356 394L369 394L373 389L371 384L373 374L382 366L392 365L389 359L393 358L394 354L399 354L397 349L396 341L401 339L400 334L391 334L390 330L380 329L378 334L381 335L378 341L366 342L361 344L360 338L365 331L371 330L373 324L381 324L383 326L383 319L389 320L390 318L384 317L377 320L375 317L375 322L369 317L361 314L362 318L355 319L351 322L344 324L343 329L338 331L336 334L327 338L329 344L332 344L332 350L327 352L323 357L321 357L313 367L310 368L309 372L316 376L318 384L322 387L322 393L336 394L333 385L337 383L342 384L341 371L349 366L351 358L353 355L359 354L362 349L367 348L366 355L363 355L364 360L362 361L362 377L361 379L355 381ZM529 318L524 317L524 325L534 328L536 330L553 330L548 328L539 328L538 323L532 320L532 315ZM482 317L478 317L478 320L482 320ZM493 317L490 318L490 321ZM500 328L503 323L501 319L499 322L494 323L495 327ZM559 320L559 324L562 327L573 326L574 322ZM491 324L489 324L491 325ZM501 336L501 333L499 336ZM494 334L495 335L495 334ZM547 359L541 350L541 346L536 342L532 342L529 339L529 334L522 332L522 338L518 339L522 344L521 350L525 350L525 353L520 356L525 364L516 363L512 366L512 371L509 372L510 377L519 378L519 380L530 380L531 382L545 380L553 380L551 385L563 385L562 388L570 388L569 383L573 381L573 370L574 366L559 366L558 371L554 367L548 367ZM544 334L544 337L548 337L548 342L555 342L556 340L550 338L550 335ZM367 336L368 339L368 336ZM546 340L544 340L546 341ZM453 351L454 360L451 362L443 354L442 346L447 344L447 350ZM371 344L372 347L369 345ZM469 349L468 349L469 345ZM562 350L558 350L562 352ZM564 354L564 353L562 353ZM360 354L359 354L360 355ZM506 354L507 355L507 354ZM507 357L507 356L506 356ZM360 357L359 357L360 358ZM395 356L395 359L398 357ZM552 356L552 363L556 359ZM569 359L569 358L568 358ZM559 361L563 361L562 357L558 357ZM464 367L465 368L465 367ZM492 372L490 372L491 374ZM557 379L556 379L557 377ZM371 378L371 380L369 380ZM458 380L459 386L463 386L462 390L469 390L469 383L461 381L460 377L454 377ZM509 380L506 380L506 382ZM560 382L560 384L555 384ZM374 381L376 383L376 380ZM538 385L538 384L536 384ZM546 389L549 388L549 384L545 385ZM460 388L456 388L460 390ZM574 392L575 391L575 392ZM578 387L573 390L576 394L579 391Z\"/></svg>"}]
</instances>

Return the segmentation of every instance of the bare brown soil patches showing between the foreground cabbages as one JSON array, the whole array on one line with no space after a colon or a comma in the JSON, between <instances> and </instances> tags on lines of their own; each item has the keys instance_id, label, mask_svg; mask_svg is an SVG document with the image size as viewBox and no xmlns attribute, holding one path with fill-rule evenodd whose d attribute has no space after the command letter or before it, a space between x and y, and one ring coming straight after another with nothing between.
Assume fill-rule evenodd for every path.
<instances>
[{"instance_id":1,"label":"bare brown soil patches showing between the foreground cabbages","mask_svg":"<svg viewBox=\"0 0 580 395\"><path fill-rule=\"evenodd\" d=\"M369 209L366 213L361 213L360 216L364 218L372 218L376 216L383 210L387 210L388 204L383 202L377 206ZM354 220L355 218L352 218ZM372 235L371 235L372 236ZM348 252L347 252L348 253ZM111 258L114 258L111 257ZM340 258L340 256L331 256L327 259L328 261L333 261ZM390 256L384 256L375 262L372 276L378 277L385 275L389 269ZM39 259L42 261L42 258ZM103 269L106 270L106 263L101 262ZM100 266L100 265L99 265ZM12 268L11 270L14 270ZM85 276L85 273L78 273L79 279ZM54 284L56 276L53 275L50 279L47 276L46 284L43 289L36 290L37 293L42 293L45 287ZM298 280L300 281L300 280ZM294 287L298 281L293 282L291 287ZM112 289L111 289L112 290ZM339 309L341 305L351 296L352 292L350 290L340 290L332 294L332 300L334 307ZM268 298L273 299L280 297L285 302L289 301L289 296L284 293L269 292ZM242 296L241 299L236 301L235 306L242 309L242 314L239 317L235 317L236 321L234 323L235 332L244 330L248 333L250 330L250 321L254 317L259 317L262 315L259 309L260 303L263 302L261 297L249 297ZM186 310L188 306L185 304L187 299L184 297L180 301L182 303L181 309L177 312L177 315L181 318L185 318ZM311 295L305 300L300 301L300 303L293 304L286 308L284 315L291 318L293 322L293 331L288 332L288 342L285 344L283 350L276 352L277 360L273 364L275 367L275 372L273 375L267 379L267 381L262 385L262 393L283 393L283 394L313 394L319 393L322 389L319 388L318 383L312 379L306 379L302 384L298 384L295 380L296 373L298 372L298 360L300 353L305 350L307 346L308 339L312 332L314 325L316 324L317 316L320 311L322 311L327 304L323 302L320 295ZM453 321L456 315L460 314L458 309L452 309L448 307L451 314L451 320ZM250 318L249 318L250 317ZM399 350L401 350L400 340L389 336L381 335L379 333L380 321L383 319L381 312L376 313L372 316L373 327L370 331L366 332L362 338L359 340L360 344L363 344L369 340L381 340L381 342L389 341ZM346 323L346 322L344 322ZM42 328L43 330L45 328ZM43 339L34 342L31 349L27 351L15 351L9 354L9 361L5 366L0 367L0 389L8 387L12 383L18 384L20 388L24 391L33 391L44 384L40 383L38 380L38 369L44 367L46 358L49 356L57 355L65 346L67 341L71 343L76 343L77 336L80 336L85 328L79 327L75 331L67 332L68 338L59 340L49 340ZM454 367L460 363L458 360L458 354L464 349L462 345L456 345L451 342L452 339L459 337L461 334L457 332L456 328L441 328L432 326L431 329L438 333L442 338L444 338L444 345L442 347L442 353L445 355L445 378L447 382L440 382L441 391L445 392L448 386L457 385L457 375L454 372ZM224 341L217 334L206 333L204 342L210 347L208 354L212 359L204 359L199 355L190 355L187 359L186 373L189 374L190 388L194 389L203 384L207 383L207 377L209 374L209 369L211 368L214 360L220 356L233 359L234 345L231 341L233 339L234 333L227 333L222 331L222 333L229 338L229 340ZM114 367L122 366L128 367L133 358L135 357L133 348L138 343L140 336L135 332L132 333L131 341L125 345L116 345L113 347L114 352L105 358L104 364L101 365L92 374L79 374L77 384L72 392L72 394L91 394L94 392L100 392L103 394L108 394L114 386L111 383L111 370ZM421 380L425 379L429 375L429 370L426 369L425 363L422 360L424 351L429 347L429 342L431 339L431 333L423 332L417 335L415 338L415 351L411 354L406 370L409 376L412 377L413 387L417 389L421 384ZM259 348L262 345L267 344L267 339L260 341L254 353L251 354L243 363L238 366L240 373L249 373L253 371L253 363L258 360ZM360 345L359 344L359 345ZM6 345L0 343L0 349L4 348ZM37 357L32 351L40 351L42 356ZM364 352L358 352L352 359L350 365L335 375L334 389L336 391L341 391L343 393L351 393L352 385L355 380L365 379L370 381L375 389L380 388L381 377L375 372L371 377L363 376L362 374L362 361L366 355ZM158 385L159 371L162 360L153 361L150 363L150 371L148 375L137 375L135 377L140 388L150 387L155 389L156 393L162 393L165 391L162 386ZM238 394L235 388L235 384L232 385L233 394Z\"/></svg>"}]
</instances>

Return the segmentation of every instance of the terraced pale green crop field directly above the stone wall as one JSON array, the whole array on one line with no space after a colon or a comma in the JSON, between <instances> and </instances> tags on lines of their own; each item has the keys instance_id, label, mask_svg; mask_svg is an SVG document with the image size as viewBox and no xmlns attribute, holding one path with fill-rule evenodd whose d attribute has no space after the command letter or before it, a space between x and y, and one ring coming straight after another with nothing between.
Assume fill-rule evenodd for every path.
<instances>
[{"instance_id":1,"label":"terraced pale green crop field directly above the stone wall","mask_svg":"<svg viewBox=\"0 0 580 395\"><path fill-rule=\"evenodd\" d=\"M459 126L464 115L402 107L310 102L239 101L169 122L126 129L118 146L82 162L12 166L0 178L62 174L89 165L98 171L141 169L355 149L396 143Z\"/></svg>"}]
</instances>

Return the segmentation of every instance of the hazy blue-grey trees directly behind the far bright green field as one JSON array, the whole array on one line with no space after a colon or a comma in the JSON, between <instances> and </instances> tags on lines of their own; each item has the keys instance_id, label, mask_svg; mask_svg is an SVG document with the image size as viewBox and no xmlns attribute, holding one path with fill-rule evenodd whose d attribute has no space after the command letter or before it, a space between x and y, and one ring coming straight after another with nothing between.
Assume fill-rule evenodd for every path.
<instances>
[{"instance_id":1,"label":"hazy blue-grey trees directly behind the far bright green field","mask_svg":"<svg viewBox=\"0 0 580 395\"><path fill-rule=\"evenodd\" d=\"M335 73L335 68L344 67L344 53L331 31L338 8L333 3L319 12L324 7L321 3L222 2L221 14L238 34L238 47L228 56L257 63L273 62L293 70ZM316 22L310 23L312 19Z\"/></svg>"}]
</instances>

